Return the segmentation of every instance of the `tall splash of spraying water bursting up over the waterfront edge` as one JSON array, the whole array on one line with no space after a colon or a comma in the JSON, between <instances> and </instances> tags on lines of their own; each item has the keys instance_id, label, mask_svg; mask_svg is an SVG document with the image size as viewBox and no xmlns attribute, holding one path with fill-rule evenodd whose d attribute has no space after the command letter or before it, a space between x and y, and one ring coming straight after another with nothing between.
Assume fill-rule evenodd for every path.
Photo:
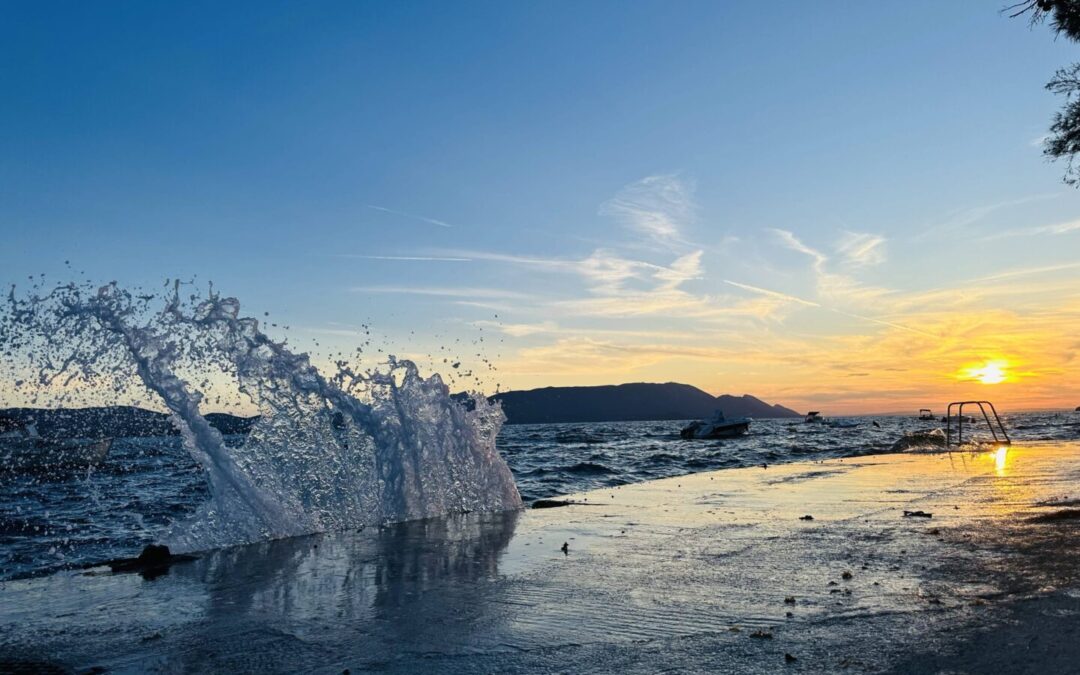
<instances>
[{"instance_id":1,"label":"tall splash of spraying water bursting up over the waterfront edge","mask_svg":"<svg viewBox=\"0 0 1080 675\"><path fill-rule=\"evenodd\" d=\"M80 386L126 392L137 375L172 413L211 494L166 532L175 550L521 508L495 446L498 405L476 394L463 405L438 375L393 357L363 374L338 362L324 377L241 316L237 299L180 289L172 284L157 311L156 296L116 283L12 289L0 315L0 352L33 372L29 387L52 403ZM203 389L226 374L258 408L240 447L200 411L204 392L188 373Z\"/></svg>"}]
</instances>

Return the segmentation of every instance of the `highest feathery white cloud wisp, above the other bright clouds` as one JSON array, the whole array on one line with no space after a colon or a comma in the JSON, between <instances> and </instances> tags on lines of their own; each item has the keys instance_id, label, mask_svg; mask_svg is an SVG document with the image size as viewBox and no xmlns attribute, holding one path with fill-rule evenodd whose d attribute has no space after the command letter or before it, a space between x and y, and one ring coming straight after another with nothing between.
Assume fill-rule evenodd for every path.
<instances>
[{"instance_id":1,"label":"highest feathery white cloud wisp, above the other bright clouds","mask_svg":"<svg viewBox=\"0 0 1080 675\"><path fill-rule=\"evenodd\" d=\"M694 186L676 175L647 176L621 189L600 205L600 215L612 216L624 227L653 241L671 244L697 215Z\"/></svg>"}]
</instances>

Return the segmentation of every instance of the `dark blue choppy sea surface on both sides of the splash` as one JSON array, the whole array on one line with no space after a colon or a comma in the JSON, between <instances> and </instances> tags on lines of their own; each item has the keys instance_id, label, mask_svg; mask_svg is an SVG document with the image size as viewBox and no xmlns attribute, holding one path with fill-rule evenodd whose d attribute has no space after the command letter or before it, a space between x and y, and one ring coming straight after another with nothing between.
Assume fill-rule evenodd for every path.
<instances>
[{"instance_id":1,"label":"dark blue choppy sea surface on both sides of the splash","mask_svg":"<svg viewBox=\"0 0 1080 675\"><path fill-rule=\"evenodd\" d=\"M504 427L497 447L528 502L700 471L879 454L905 431L939 426L908 417L851 421L859 426L758 420L746 436L725 441L681 440L678 421L522 424ZM1080 414L1017 414L1004 422L1014 442L1080 438ZM230 446L243 441L226 438ZM0 474L0 579L133 555L208 497L203 470L179 437L118 438L93 471Z\"/></svg>"}]
</instances>

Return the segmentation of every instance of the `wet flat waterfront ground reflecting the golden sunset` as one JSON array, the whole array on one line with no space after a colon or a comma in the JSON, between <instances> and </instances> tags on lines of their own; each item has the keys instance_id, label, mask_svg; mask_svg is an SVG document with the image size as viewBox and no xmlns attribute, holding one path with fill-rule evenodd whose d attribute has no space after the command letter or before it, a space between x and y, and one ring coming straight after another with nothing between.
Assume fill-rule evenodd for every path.
<instances>
[{"instance_id":1,"label":"wet flat waterfront ground reflecting the golden sunset","mask_svg":"<svg viewBox=\"0 0 1080 675\"><path fill-rule=\"evenodd\" d=\"M874 456L9 582L0 670L1068 671L1078 481L1080 444Z\"/></svg>"}]
</instances>

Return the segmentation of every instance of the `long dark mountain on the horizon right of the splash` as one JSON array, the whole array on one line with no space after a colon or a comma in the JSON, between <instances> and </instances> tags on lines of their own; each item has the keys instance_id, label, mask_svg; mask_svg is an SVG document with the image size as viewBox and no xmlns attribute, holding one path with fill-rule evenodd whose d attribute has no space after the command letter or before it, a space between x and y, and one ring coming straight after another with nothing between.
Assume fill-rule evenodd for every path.
<instances>
[{"instance_id":1,"label":"long dark mountain on the horizon right of the splash","mask_svg":"<svg viewBox=\"0 0 1080 675\"><path fill-rule=\"evenodd\" d=\"M713 396L697 387L666 382L605 387L545 387L491 396L511 424L606 422L711 417L801 417L795 410L744 394Z\"/></svg>"}]
</instances>

